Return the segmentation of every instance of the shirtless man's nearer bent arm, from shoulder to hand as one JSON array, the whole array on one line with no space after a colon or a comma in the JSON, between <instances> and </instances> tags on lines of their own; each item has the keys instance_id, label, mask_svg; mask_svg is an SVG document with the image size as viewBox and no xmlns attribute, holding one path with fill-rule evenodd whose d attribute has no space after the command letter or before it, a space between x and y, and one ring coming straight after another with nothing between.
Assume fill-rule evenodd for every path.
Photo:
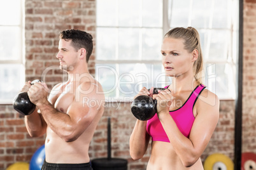
<instances>
[{"instance_id":1,"label":"shirtless man's nearer bent arm, from shoulder to hand","mask_svg":"<svg viewBox=\"0 0 256 170\"><path fill-rule=\"evenodd\" d=\"M104 95L96 94L96 85L91 82L80 85L81 89L90 86L92 90L89 94L78 91L77 94L80 95L80 98L78 98L78 101L76 101L76 97L74 98L68 107L67 113L59 112L46 100L45 89L43 89L43 86L46 88L46 84L43 84L43 86L41 86L41 83L35 85L28 93L29 95L33 94L33 97L31 97L32 103L37 105L49 128L64 141L75 141L90 126L99 110L103 109L103 102L101 101L104 100ZM91 88L91 86L94 86L94 88ZM90 106L88 103L83 103L84 97L96 102Z\"/></svg>"}]
</instances>

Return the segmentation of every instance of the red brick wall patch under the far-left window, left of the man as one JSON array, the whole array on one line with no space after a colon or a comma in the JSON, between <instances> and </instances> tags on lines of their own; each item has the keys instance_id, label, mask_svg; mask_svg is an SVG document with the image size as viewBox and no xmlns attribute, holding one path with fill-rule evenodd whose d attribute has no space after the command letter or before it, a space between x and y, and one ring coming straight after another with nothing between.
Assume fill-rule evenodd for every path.
<instances>
[{"instance_id":1,"label":"red brick wall patch under the far-left window, left of the man","mask_svg":"<svg viewBox=\"0 0 256 170\"><path fill-rule=\"evenodd\" d=\"M24 125L24 117L12 105L0 105L0 169L14 162L29 162L44 143L44 138L32 139Z\"/></svg>"}]
</instances>

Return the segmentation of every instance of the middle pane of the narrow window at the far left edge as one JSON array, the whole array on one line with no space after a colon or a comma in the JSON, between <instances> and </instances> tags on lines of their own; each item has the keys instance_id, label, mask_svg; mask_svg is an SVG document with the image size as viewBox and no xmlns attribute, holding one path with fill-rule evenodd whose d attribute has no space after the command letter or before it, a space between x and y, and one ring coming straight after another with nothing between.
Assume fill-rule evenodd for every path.
<instances>
[{"instance_id":1,"label":"middle pane of the narrow window at the far left edge","mask_svg":"<svg viewBox=\"0 0 256 170\"><path fill-rule=\"evenodd\" d=\"M20 27L0 27L0 37L0 60L18 60L21 58Z\"/></svg>"}]
</instances>

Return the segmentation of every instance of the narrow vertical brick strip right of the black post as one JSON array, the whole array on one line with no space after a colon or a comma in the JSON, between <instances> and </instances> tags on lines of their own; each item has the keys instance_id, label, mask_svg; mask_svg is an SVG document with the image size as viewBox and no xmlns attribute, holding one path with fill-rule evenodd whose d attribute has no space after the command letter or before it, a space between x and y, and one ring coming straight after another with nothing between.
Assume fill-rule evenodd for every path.
<instances>
[{"instance_id":1,"label":"narrow vertical brick strip right of the black post","mask_svg":"<svg viewBox=\"0 0 256 170\"><path fill-rule=\"evenodd\" d=\"M256 0L243 11L243 152L256 154Z\"/></svg>"}]
</instances>

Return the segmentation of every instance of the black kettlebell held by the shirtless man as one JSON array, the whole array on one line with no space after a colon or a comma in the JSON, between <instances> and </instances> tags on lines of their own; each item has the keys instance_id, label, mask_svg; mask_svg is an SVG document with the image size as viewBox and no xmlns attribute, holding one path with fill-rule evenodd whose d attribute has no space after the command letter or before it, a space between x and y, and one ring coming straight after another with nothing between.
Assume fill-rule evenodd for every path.
<instances>
[{"instance_id":1,"label":"black kettlebell held by the shirtless man","mask_svg":"<svg viewBox=\"0 0 256 170\"><path fill-rule=\"evenodd\" d=\"M38 79L31 82L31 85L36 82L42 82ZM29 100L27 92L18 93L13 99L13 108L22 115L30 115L36 109L36 105Z\"/></svg>"}]
</instances>

